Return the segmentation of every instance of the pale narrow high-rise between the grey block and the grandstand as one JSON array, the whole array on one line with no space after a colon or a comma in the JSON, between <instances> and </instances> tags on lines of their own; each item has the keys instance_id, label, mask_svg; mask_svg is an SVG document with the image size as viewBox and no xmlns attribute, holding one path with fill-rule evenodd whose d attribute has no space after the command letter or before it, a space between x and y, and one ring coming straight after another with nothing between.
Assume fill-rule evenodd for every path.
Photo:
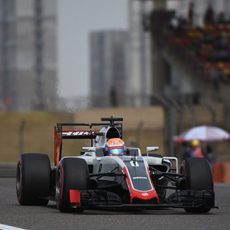
<instances>
[{"instance_id":1,"label":"pale narrow high-rise between the grey block and the grandstand","mask_svg":"<svg viewBox=\"0 0 230 230\"><path fill-rule=\"evenodd\" d=\"M129 65L127 104L147 106L151 96L151 44L148 15L152 3L148 0L129 0Z\"/></svg>"}]
</instances>

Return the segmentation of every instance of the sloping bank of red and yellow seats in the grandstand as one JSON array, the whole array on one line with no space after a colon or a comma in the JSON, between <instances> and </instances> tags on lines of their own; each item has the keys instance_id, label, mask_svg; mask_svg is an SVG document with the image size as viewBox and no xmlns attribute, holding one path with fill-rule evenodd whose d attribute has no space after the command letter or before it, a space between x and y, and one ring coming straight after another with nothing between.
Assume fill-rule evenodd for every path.
<instances>
[{"instance_id":1,"label":"sloping bank of red and yellow seats in the grandstand","mask_svg":"<svg viewBox=\"0 0 230 230\"><path fill-rule=\"evenodd\" d=\"M230 83L230 23L226 21L195 27L190 24L171 27L169 46L185 65L195 67L201 80L211 83L217 101L226 101L227 94L218 92Z\"/></svg>"}]
</instances>

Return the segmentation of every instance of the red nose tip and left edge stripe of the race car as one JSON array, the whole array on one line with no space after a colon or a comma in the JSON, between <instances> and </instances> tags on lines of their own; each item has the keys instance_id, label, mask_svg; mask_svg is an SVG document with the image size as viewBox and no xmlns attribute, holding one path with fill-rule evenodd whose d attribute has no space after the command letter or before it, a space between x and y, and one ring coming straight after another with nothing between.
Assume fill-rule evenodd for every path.
<instances>
[{"instance_id":1,"label":"red nose tip and left edge stripe of the race car","mask_svg":"<svg viewBox=\"0 0 230 230\"><path fill-rule=\"evenodd\" d=\"M137 190L133 187L131 179L129 177L129 173L126 167L124 167L124 173L126 175L126 182L128 184L129 187L129 192L130 192L130 203L133 203L133 199L137 198L140 200L152 200L154 198L157 199L157 203L159 203L159 197L158 194L156 192L156 190L154 189L154 187L151 190L148 191L141 191L141 190Z\"/></svg>"}]
</instances>

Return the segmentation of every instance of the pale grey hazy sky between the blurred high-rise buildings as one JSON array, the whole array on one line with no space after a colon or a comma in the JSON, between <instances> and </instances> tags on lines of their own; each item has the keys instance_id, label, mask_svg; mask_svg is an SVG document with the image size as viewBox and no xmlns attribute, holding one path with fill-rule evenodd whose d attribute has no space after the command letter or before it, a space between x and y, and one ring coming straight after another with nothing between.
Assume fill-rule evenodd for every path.
<instances>
[{"instance_id":1,"label":"pale grey hazy sky between the blurred high-rise buildings","mask_svg":"<svg viewBox=\"0 0 230 230\"><path fill-rule=\"evenodd\" d=\"M88 34L127 28L127 0L58 0L58 78L60 96L89 91Z\"/></svg>"}]
</instances>

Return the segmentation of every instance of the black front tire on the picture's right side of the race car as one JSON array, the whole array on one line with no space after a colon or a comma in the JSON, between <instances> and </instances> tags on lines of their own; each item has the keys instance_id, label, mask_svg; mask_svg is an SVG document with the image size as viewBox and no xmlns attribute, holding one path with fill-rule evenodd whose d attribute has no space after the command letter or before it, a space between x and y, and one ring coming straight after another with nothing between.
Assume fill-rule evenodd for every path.
<instances>
[{"instance_id":1,"label":"black front tire on the picture's right side of the race car","mask_svg":"<svg viewBox=\"0 0 230 230\"><path fill-rule=\"evenodd\" d=\"M182 162L181 174L185 176L184 189L213 192L213 178L210 165L205 158L190 158ZM213 198L214 199L214 198ZM188 213L207 213L214 200L196 208L185 208Z\"/></svg>"}]
</instances>

